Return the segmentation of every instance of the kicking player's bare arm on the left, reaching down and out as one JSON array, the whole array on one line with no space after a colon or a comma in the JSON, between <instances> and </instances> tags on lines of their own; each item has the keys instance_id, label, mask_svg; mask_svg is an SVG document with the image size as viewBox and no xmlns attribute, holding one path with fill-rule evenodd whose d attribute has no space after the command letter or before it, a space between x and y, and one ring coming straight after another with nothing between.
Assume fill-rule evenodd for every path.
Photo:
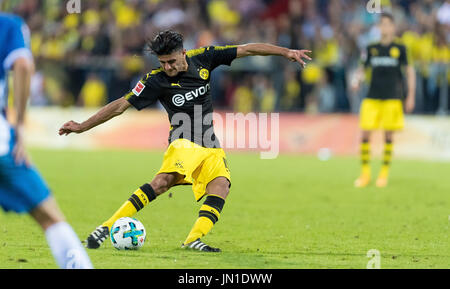
<instances>
[{"instance_id":1,"label":"kicking player's bare arm on the left, reaching down and out","mask_svg":"<svg viewBox=\"0 0 450 289\"><path fill-rule=\"evenodd\" d=\"M60 129L59 135L68 135L72 132L82 133L102 124L111 118L121 115L131 104L124 97L121 97L113 102L102 107L96 114L88 118L82 123L73 120L66 122Z\"/></svg>"}]
</instances>

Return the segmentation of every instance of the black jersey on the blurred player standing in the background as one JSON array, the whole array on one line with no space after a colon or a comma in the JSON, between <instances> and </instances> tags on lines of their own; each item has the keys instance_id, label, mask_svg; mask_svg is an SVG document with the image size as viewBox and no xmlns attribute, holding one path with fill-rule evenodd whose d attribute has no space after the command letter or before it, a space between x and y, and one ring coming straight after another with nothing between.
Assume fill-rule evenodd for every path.
<instances>
[{"instance_id":1,"label":"black jersey on the blurred player standing in the background","mask_svg":"<svg viewBox=\"0 0 450 289\"><path fill-rule=\"evenodd\" d=\"M371 70L368 98L403 99L403 68L408 65L406 47L396 41L387 46L374 43L366 48L364 66Z\"/></svg>"}]
</instances>

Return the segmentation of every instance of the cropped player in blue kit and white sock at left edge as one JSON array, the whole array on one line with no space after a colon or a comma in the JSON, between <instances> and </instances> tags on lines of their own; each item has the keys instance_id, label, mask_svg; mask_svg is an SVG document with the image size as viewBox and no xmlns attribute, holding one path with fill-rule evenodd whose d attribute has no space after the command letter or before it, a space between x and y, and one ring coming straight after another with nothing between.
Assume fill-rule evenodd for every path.
<instances>
[{"instance_id":1,"label":"cropped player in blue kit and white sock at left edge","mask_svg":"<svg viewBox=\"0 0 450 289\"><path fill-rule=\"evenodd\" d=\"M20 17L0 13L0 206L27 212L42 227L61 268L92 268L91 261L55 199L30 164L24 145L24 121L34 62L29 30ZM6 119L7 73L12 68L16 123Z\"/></svg>"}]
</instances>

